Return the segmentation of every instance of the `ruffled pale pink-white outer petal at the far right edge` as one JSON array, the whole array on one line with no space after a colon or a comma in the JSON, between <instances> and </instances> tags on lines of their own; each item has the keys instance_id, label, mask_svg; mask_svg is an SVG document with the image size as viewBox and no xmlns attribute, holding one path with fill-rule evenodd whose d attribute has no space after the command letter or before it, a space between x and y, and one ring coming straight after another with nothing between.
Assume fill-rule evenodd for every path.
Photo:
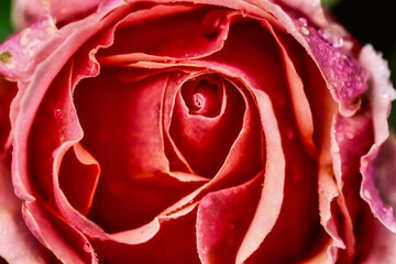
<instances>
[{"instance_id":1,"label":"ruffled pale pink-white outer petal at the far right edge","mask_svg":"<svg viewBox=\"0 0 396 264\"><path fill-rule=\"evenodd\" d=\"M394 188L394 140L382 144L388 138L387 116L391 101L395 99L395 90L388 80L389 70L386 63L372 46L365 46L361 62L371 72L371 109L374 125L374 145L361 161L363 176L361 196L369 204L375 217L389 230L396 233L396 217L393 213L395 205L389 200ZM386 186L386 187L385 187ZM392 207L393 206L393 207Z\"/></svg>"}]
</instances>

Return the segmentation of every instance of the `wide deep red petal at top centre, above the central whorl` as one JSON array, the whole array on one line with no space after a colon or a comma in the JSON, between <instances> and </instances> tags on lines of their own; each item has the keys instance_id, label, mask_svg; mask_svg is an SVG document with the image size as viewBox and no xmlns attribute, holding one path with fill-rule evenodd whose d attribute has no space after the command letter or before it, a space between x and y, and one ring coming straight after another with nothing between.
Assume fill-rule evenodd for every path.
<instances>
[{"instance_id":1,"label":"wide deep red petal at top centre, above the central whorl","mask_svg":"<svg viewBox=\"0 0 396 264\"><path fill-rule=\"evenodd\" d=\"M191 6L156 6L133 12L119 23L114 44L98 57L105 64L127 64L146 61L136 54L166 61L207 56L221 50L231 16L227 10Z\"/></svg>"}]
</instances>

